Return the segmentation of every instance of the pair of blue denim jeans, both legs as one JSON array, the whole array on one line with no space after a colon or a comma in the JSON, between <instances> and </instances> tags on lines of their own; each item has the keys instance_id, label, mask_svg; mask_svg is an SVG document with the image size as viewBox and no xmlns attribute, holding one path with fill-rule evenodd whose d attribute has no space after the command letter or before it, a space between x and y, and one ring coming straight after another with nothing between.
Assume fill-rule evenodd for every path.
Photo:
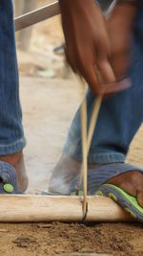
<instances>
[{"instance_id":1,"label":"pair of blue denim jeans, both legs","mask_svg":"<svg viewBox=\"0 0 143 256\"><path fill-rule=\"evenodd\" d=\"M133 38L133 64L130 70L133 86L103 103L92 139L89 154L89 162L91 163L124 161L133 135L142 123L142 13L143 3L141 3L136 18ZM0 155L7 155L22 151L26 145L19 102L11 0L0 1L0 35ZM92 105L96 100L90 90L87 93L87 100L90 119ZM72 121L64 151L73 158L81 160L79 109Z\"/></svg>"}]
</instances>

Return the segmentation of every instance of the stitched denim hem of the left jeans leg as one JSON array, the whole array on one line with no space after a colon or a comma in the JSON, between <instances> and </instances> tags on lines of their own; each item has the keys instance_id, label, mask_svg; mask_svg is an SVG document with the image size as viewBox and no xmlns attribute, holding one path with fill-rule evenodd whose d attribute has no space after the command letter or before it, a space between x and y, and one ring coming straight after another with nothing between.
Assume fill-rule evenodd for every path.
<instances>
[{"instance_id":1,"label":"stitched denim hem of the left jeans leg","mask_svg":"<svg viewBox=\"0 0 143 256\"><path fill-rule=\"evenodd\" d=\"M0 155L9 155L18 151L22 151L27 144L25 137L18 139L10 144L0 144Z\"/></svg>"}]
</instances>

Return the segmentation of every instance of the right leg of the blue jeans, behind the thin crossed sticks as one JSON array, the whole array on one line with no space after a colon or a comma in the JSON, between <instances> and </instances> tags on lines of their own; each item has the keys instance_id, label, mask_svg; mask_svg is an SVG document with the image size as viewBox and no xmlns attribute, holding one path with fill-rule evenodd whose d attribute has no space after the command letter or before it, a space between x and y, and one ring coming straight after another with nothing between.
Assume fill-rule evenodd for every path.
<instances>
[{"instance_id":1,"label":"right leg of the blue jeans, behind the thin crossed sticks","mask_svg":"<svg viewBox=\"0 0 143 256\"><path fill-rule=\"evenodd\" d=\"M89 163L124 162L133 136L143 121L143 1L140 1L133 34L132 87L103 102L92 138ZM96 98L87 92L88 120ZM80 109L77 110L64 152L81 161Z\"/></svg>"}]
</instances>

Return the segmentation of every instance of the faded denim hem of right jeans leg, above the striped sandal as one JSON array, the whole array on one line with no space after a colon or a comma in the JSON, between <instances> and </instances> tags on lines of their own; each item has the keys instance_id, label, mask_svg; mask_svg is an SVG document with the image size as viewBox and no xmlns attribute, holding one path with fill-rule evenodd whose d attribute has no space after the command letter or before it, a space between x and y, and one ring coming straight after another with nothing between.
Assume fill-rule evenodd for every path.
<instances>
[{"instance_id":1,"label":"faded denim hem of right jeans leg, above the striped sandal","mask_svg":"<svg viewBox=\"0 0 143 256\"><path fill-rule=\"evenodd\" d=\"M65 147L63 152L77 160L77 161L82 161L82 155L79 153L80 149L76 146L77 151L71 151L70 148L69 150ZM78 151L79 150L79 151ZM90 152L88 156L88 162L91 164L108 164L108 163L115 163L115 162L120 162L123 163L125 162L126 155L120 152Z\"/></svg>"}]
</instances>

